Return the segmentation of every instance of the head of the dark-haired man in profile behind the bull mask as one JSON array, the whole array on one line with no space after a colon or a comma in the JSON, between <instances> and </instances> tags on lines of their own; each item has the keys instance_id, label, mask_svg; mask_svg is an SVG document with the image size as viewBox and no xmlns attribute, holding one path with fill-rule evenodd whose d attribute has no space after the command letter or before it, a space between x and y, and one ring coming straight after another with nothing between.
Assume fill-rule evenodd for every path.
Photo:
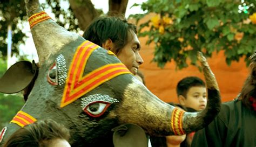
<instances>
[{"instance_id":1,"label":"head of the dark-haired man in profile behind the bull mask","mask_svg":"<svg viewBox=\"0 0 256 147\"><path fill-rule=\"evenodd\" d=\"M139 65L143 64L140 57L140 42L136 35L136 26L120 17L99 17L85 30L83 37L108 51L136 75Z\"/></svg>"}]
</instances>

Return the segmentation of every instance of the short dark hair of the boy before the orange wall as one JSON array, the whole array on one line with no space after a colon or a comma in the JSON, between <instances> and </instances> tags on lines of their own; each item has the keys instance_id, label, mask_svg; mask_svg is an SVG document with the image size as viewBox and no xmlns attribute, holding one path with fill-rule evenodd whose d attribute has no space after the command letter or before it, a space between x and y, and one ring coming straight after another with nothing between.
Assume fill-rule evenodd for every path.
<instances>
[{"instance_id":1,"label":"short dark hair of the boy before the orange wall","mask_svg":"<svg viewBox=\"0 0 256 147\"><path fill-rule=\"evenodd\" d=\"M197 76L188 76L178 82L176 87L177 95L182 95L186 99L188 90L195 86L205 87L205 82Z\"/></svg>"}]
</instances>

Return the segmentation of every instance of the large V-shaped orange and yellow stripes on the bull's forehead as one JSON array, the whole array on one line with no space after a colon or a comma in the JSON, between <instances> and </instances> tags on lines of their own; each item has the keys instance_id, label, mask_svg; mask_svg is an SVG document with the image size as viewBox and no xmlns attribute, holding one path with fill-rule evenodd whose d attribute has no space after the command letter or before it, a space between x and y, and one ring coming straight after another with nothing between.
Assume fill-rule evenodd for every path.
<instances>
[{"instance_id":1,"label":"large V-shaped orange and yellow stripes on the bull's forehead","mask_svg":"<svg viewBox=\"0 0 256 147\"><path fill-rule=\"evenodd\" d=\"M65 107L102 83L120 74L131 74L122 63L108 64L83 76L90 55L99 46L86 40L78 46L71 62L60 107Z\"/></svg>"}]
</instances>

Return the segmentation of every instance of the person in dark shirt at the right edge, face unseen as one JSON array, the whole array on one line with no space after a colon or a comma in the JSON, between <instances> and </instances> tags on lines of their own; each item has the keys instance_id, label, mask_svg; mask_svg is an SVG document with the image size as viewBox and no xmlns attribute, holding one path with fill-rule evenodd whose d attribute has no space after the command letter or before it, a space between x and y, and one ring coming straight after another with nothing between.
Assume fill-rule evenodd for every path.
<instances>
[{"instance_id":1,"label":"person in dark shirt at the right edge, face unseen","mask_svg":"<svg viewBox=\"0 0 256 147\"><path fill-rule=\"evenodd\" d=\"M256 53L250 59L251 72L240 94L235 100L221 104L217 117L196 132L192 147L256 146Z\"/></svg>"}]
</instances>

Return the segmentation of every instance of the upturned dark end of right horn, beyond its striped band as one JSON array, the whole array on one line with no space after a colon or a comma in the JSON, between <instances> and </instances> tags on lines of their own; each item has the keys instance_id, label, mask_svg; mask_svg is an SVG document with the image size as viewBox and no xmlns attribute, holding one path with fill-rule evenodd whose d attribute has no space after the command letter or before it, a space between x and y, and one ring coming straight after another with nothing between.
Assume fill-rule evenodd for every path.
<instances>
[{"instance_id":1,"label":"upturned dark end of right horn, beyond its striped band","mask_svg":"<svg viewBox=\"0 0 256 147\"><path fill-rule=\"evenodd\" d=\"M185 132L201 129L201 126L209 124L220 111L221 100L217 80L201 52L198 53L198 60L201 62L205 76L208 90L208 103L206 109L200 113L184 114L183 123Z\"/></svg>"}]
</instances>

